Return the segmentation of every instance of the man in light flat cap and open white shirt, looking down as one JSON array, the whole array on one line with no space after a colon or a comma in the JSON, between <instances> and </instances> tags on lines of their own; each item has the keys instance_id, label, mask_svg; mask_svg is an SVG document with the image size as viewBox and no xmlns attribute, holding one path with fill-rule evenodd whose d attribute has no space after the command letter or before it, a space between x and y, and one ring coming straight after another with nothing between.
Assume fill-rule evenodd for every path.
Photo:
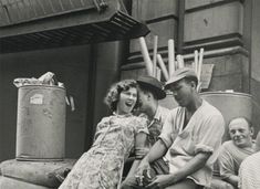
<instances>
[{"instance_id":1,"label":"man in light flat cap and open white shirt, looking down","mask_svg":"<svg viewBox=\"0 0 260 189\"><path fill-rule=\"evenodd\" d=\"M136 177L142 187L198 189L210 186L225 120L217 108L199 96L197 84L196 73L187 67L174 72L166 82L165 88L173 92L179 107L170 111L159 139L141 161ZM166 153L169 172L152 179L149 165Z\"/></svg>"}]
</instances>

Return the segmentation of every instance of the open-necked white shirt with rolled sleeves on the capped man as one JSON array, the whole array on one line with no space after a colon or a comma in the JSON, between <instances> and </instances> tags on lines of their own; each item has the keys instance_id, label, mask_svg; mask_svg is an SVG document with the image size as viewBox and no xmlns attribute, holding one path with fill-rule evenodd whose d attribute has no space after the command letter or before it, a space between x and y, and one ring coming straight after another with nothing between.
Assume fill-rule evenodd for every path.
<instances>
[{"instance_id":1,"label":"open-necked white shirt with rolled sleeves on the capped man","mask_svg":"<svg viewBox=\"0 0 260 189\"><path fill-rule=\"evenodd\" d=\"M169 149L166 155L169 171L175 172L180 169L198 153L209 151L211 156L205 167L188 177L197 185L208 187L225 133L223 117L216 107L202 101L201 106L194 113L185 128L184 122L185 108L171 109L159 136Z\"/></svg>"}]
</instances>

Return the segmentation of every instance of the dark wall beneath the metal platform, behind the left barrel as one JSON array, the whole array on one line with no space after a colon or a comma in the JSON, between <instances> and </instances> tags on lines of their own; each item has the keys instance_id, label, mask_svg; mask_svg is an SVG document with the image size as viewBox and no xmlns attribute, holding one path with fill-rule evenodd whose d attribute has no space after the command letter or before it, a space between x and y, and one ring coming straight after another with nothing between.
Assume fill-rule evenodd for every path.
<instances>
[{"instance_id":1,"label":"dark wall beneath the metal platform, behind the left barrel","mask_svg":"<svg viewBox=\"0 0 260 189\"><path fill-rule=\"evenodd\" d=\"M108 86L118 78L122 42L100 43L0 55L0 161L15 155L17 77L39 77L50 71L74 97L66 108L66 157L77 158L92 145L96 123L108 113L103 103Z\"/></svg>"}]
</instances>

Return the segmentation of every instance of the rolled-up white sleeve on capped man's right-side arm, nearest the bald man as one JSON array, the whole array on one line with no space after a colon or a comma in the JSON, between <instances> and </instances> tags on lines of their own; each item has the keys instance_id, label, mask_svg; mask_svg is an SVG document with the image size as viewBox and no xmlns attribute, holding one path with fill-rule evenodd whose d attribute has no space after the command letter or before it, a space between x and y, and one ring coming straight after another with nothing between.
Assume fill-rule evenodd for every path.
<instances>
[{"instance_id":1,"label":"rolled-up white sleeve on capped man's right-side arm, nearest the bald man","mask_svg":"<svg viewBox=\"0 0 260 189\"><path fill-rule=\"evenodd\" d=\"M198 141L195 145L195 154L218 150L225 132L225 120L221 115L212 115L206 119L198 129Z\"/></svg>"}]
</instances>

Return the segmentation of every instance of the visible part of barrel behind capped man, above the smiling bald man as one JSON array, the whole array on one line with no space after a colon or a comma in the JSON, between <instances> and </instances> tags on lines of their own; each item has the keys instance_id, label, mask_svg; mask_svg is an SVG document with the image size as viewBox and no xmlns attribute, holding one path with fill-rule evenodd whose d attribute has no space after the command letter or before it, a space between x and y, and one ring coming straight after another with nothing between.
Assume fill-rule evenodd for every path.
<instances>
[{"instance_id":1,"label":"visible part of barrel behind capped man, above the smiling bald man","mask_svg":"<svg viewBox=\"0 0 260 189\"><path fill-rule=\"evenodd\" d=\"M222 140L229 139L228 124L232 118L243 116L252 120L252 96L245 93L206 92L201 97L217 107L226 122L226 132Z\"/></svg>"}]
</instances>

